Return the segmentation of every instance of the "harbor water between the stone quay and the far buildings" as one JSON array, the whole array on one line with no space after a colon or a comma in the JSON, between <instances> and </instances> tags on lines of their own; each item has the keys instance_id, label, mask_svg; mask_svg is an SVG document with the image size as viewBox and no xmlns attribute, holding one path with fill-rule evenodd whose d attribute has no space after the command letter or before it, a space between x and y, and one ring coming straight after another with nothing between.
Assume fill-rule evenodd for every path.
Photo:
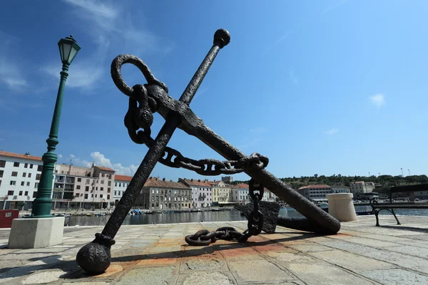
<instances>
[{"instance_id":1,"label":"harbor water between the stone quay and the far buildings","mask_svg":"<svg viewBox=\"0 0 428 285\"><path fill-rule=\"evenodd\" d=\"M357 213L371 212L370 206L355 206ZM408 216L428 216L428 209L396 209L396 214ZM382 211L380 214L390 214ZM283 217L303 217L302 214L292 208L280 209L280 216ZM101 217L66 217L65 223L68 226L103 226L110 216ZM179 212L179 213L154 213L128 215L123 224L175 224L182 222L226 222L245 220L238 210L218 211L218 212Z\"/></svg>"}]
</instances>

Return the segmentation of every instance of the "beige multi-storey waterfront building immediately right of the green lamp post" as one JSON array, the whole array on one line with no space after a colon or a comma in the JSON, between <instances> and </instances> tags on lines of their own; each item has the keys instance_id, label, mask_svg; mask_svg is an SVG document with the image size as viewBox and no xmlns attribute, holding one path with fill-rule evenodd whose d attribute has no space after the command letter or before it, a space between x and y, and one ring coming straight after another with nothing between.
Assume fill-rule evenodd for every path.
<instances>
[{"instance_id":1,"label":"beige multi-storey waterfront building immediately right of the green lamp post","mask_svg":"<svg viewBox=\"0 0 428 285\"><path fill-rule=\"evenodd\" d=\"M54 209L109 208L113 201L114 170L92 165L55 165L52 201Z\"/></svg>"}]
</instances>

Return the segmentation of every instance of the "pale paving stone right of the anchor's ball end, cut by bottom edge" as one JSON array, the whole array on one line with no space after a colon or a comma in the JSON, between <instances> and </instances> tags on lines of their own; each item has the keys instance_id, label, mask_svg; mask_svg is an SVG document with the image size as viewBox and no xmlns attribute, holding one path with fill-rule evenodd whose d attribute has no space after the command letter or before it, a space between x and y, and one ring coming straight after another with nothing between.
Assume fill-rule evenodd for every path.
<instances>
[{"instance_id":1,"label":"pale paving stone right of the anchor's ball end, cut by bottom edge","mask_svg":"<svg viewBox=\"0 0 428 285\"><path fill-rule=\"evenodd\" d=\"M115 285L141 284L165 285L173 279L173 267L149 267L131 269Z\"/></svg>"}]
</instances>

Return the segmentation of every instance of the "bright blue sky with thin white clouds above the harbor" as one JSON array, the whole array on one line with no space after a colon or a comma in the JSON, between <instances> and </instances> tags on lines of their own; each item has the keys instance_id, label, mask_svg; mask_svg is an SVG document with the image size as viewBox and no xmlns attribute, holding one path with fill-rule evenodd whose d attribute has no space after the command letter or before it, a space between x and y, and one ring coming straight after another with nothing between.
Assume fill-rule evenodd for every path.
<instances>
[{"instance_id":1,"label":"bright blue sky with thin white clouds above the harbor","mask_svg":"<svg viewBox=\"0 0 428 285\"><path fill-rule=\"evenodd\" d=\"M6 1L0 10L0 149L43 155L58 88L57 42L81 46L70 68L59 162L132 175L147 148L123 125L128 100L110 65L134 54L179 98L212 45L231 34L193 111L278 177L426 174L427 1ZM128 85L146 83L124 66ZM152 133L163 119L155 116ZM220 159L177 130L183 155ZM204 178L156 165L153 176ZM248 179L245 174L236 180Z\"/></svg>"}]
</instances>

